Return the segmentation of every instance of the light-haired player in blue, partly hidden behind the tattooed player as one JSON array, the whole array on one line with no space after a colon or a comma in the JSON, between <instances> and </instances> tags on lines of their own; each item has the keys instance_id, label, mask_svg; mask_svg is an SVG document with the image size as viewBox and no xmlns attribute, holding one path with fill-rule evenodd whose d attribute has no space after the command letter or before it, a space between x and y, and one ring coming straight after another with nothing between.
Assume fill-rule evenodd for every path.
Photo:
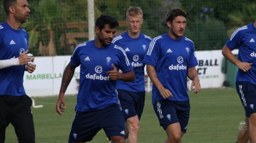
<instances>
[{"instance_id":1,"label":"light-haired player in blue, partly hidden behind the tattooed player","mask_svg":"<svg viewBox=\"0 0 256 143\"><path fill-rule=\"evenodd\" d=\"M140 118L145 102L144 67L142 63L151 38L140 32L143 13L139 7L130 7L126 12L128 31L116 36L112 43L122 47L132 64L136 74L133 82L117 80L116 89L118 99L126 122L126 136L128 143L138 142Z\"/></svg>"}]
</instances>

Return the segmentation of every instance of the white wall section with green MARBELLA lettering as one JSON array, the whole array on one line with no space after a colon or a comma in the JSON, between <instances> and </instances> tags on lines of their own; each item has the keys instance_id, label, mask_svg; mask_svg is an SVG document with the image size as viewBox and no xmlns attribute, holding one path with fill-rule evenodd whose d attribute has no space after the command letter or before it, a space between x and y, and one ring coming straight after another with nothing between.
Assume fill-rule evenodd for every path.
<instances>
[{"instance_id":1,"label":"white wall section with green MARBELLA lettering","mask_svg":"<svg viewBox=\"0 0 256 143\"><path fill-rule=\"evenodd\" d=\"M35 57L36 70L30 74L24 74L24 88L28 96L52 96L58 95L63 71L70 61L70 56ZM80 67L76 68L66 94L78 93Z\"/></svg>"}]
</instances>

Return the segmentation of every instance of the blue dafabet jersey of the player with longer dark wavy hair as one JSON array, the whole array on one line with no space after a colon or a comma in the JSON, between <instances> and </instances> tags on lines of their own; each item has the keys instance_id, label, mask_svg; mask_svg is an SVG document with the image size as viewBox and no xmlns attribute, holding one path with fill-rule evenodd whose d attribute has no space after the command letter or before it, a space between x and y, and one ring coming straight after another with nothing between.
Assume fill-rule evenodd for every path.
<instances>
[{"instance_id":1,"label":"blue dafabet jersey of the player with longer dark wavy hair","mask_svg":"<svg viewBox=\"0 0 256 143\"><path fill-rule=\"evenodd\" d=\"M145 55L145 64L155 68L161 84L171 93L173 101L188 101L187 72L189 68L198 65L194 43L182 36L179 40L172 39L168 34L153 38ZM159 90L153 84L152 104L162 100Z\"/></svg>"}]
</instances>

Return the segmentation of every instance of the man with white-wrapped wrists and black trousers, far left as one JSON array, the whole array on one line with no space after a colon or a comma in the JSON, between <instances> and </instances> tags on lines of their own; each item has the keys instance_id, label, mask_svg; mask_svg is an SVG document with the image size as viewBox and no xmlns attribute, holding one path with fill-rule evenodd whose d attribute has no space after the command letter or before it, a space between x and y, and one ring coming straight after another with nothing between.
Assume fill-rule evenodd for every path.
<instances>
[{"instance_id":1,"label":"man with white-wrapped wrists and black trousers, far left","mask_svg":"<svg viewBox=\"0 0 256 143\"><path fill-rule=\"evenodd\" d=\"M30 10L26 0L4 0L3 7L7 19L0 24L0 143L10 123L19 143L35 143L32 100L23 87L24 71L32 73L36 67L35 58L27 54L29 35L21 28Z\"/></svg>"}]
</instances>

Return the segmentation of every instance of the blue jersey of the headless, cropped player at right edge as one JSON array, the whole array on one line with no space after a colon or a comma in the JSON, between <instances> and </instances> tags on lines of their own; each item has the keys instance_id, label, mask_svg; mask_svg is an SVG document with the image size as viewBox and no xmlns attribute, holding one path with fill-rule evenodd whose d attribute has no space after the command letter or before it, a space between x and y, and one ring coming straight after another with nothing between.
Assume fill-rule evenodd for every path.
<instances>
[{"instance_id":1,"label":"blue jersey of the headless, cropped player at right edge","mask_svg":"<svg viewBox=\"0 0 256 143\"><path fill-rule=\"evenodd\" d=\"M256 84L256 28L254 23L238 28L233 32L226 46L230 50L239 48L238 59L242 62L252 63L251 70L237 71L236 82L250 82Z\"/></svg>"}]
</instances>

